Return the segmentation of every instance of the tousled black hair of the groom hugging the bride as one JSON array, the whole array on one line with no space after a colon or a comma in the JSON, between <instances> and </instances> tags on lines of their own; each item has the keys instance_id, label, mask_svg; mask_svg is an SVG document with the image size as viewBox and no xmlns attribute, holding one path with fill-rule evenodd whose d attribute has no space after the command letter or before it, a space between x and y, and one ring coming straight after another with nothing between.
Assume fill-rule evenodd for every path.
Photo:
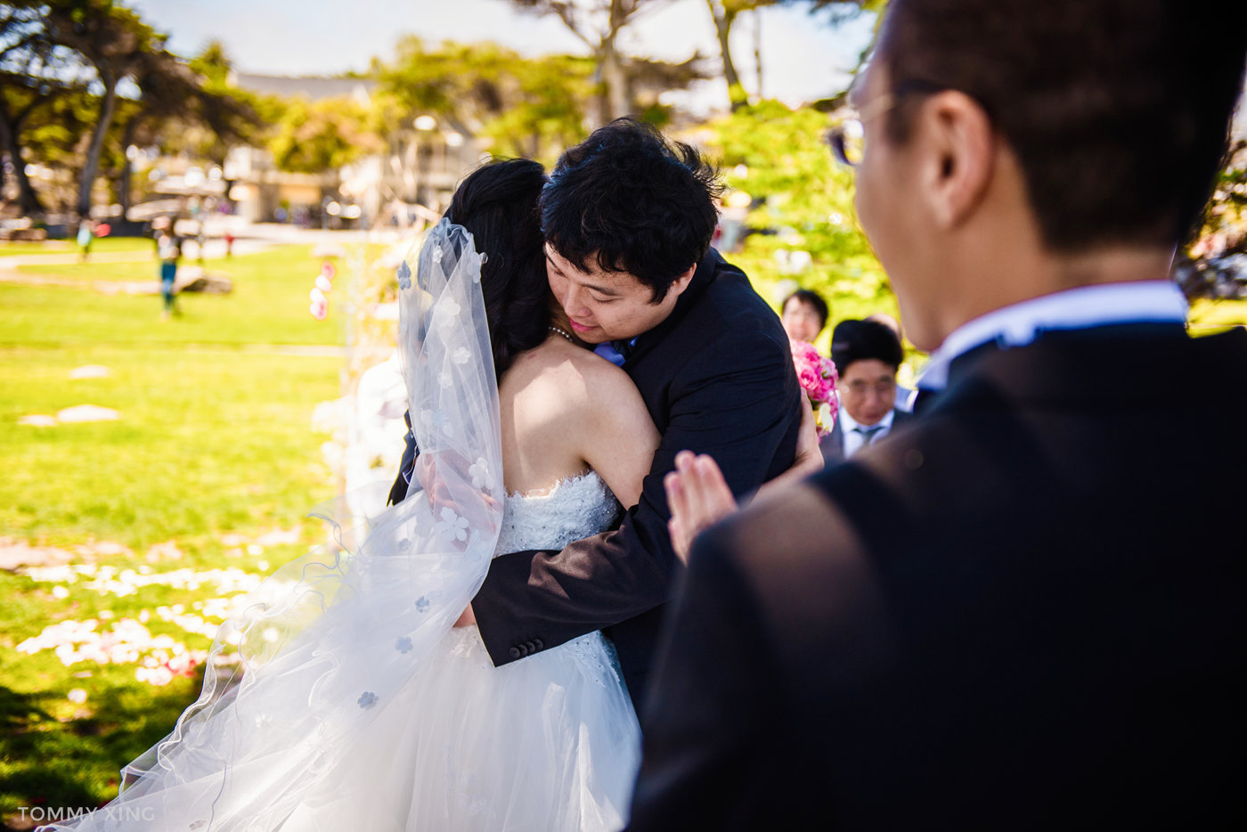
<instances>
[{"instance_id":1,"label":"tousled black hair of the groom hugging the bride","mask_svg":"<svg viewBox=\"0 0 1247 832\"><path fill-rule=\"evenodd\" d=\"M580 271L627 272L653 302L710 248L722 192L691 145L616 119L559 158L541 192L541 232Z\"/></svg>"}]
</instances>

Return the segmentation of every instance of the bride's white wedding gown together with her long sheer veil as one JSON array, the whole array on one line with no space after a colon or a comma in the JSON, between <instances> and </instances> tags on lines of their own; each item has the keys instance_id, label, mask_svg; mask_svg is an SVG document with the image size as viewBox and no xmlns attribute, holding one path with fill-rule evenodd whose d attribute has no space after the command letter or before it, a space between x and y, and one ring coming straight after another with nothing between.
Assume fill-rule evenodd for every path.
<instances>
[{"instance_id":1,"label":"bride's white wedding gown together with her long sheer veil","mask_svg":"<svg viewBox=\"0 0 1247 832\"><path fill-rule=\"evenodd\" d=\"M355 526L324 514L332 540L226 620L198 700L122 770L117 798L44 828L624 826L640 730L602 635L495 669L475 627L451 627L490 554L562 548L609 528L619 504L592 472L506 494L483 256L443 220L408 261L399 349L412 429L439 488Z\"/></svg>"}]
</instances>

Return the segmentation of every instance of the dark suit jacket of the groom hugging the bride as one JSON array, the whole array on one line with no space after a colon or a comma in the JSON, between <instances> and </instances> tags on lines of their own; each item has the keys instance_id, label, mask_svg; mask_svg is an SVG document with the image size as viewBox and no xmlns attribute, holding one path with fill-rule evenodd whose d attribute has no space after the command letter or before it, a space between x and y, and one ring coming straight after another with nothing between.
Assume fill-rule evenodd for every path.
<instances>
[{"instance_id":1,"label":"dark suit jacket of the groom hugging the bride","mask_svg":"<svg viewBox=\"0 0 1247 832\"><path fill-rule=\"evenodd\" d=\"M667 533L663 475L683 449L713 454L736 494L787 470L801 390L779 318L713 249L667 319L636 339L624 369L662 434L640 503L617 530L561 553L495 558L473 609L495 665L606 630L640 711L666 602L683 571Z\"/></svg>"}]
</instances>

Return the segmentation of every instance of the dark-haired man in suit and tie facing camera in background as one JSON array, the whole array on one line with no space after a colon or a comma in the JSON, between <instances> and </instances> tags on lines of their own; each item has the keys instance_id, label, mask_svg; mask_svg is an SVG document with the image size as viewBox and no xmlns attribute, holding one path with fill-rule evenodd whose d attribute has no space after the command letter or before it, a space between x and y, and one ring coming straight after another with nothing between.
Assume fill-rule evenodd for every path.
<instances>
[{"instance_id":1,"label":"dark-haired man in suit and tie facing camera in background","mask_svg":"<svg viewBox=\"0 0 1247 832\"><path fill-rule=\"evenodd\" d=\"M840 380L840 412L819 443L823 459L838 463L913 418L897 408L897 370L904 360L897 333L874 321L840 321L832 331L832 360Z\"/></svg>"}]
</instances>

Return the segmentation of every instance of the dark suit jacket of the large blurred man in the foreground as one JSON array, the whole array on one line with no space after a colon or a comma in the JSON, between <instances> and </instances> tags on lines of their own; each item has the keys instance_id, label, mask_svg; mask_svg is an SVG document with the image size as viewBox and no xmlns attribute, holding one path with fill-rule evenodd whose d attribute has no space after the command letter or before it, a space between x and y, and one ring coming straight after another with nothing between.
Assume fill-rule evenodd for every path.
<instances>
[{"instance_id":1,"label":"dark suit jacket of the large blurred man in the foreground","mask_svg":"<svg viewBox=\"0 0 1247 832\"><path fill-rule=\"evenodd\" d=\"M1245 414L1243 329L955 362L697 541L630 828L1243 828Z\"/></svg>"}]
</instances>

